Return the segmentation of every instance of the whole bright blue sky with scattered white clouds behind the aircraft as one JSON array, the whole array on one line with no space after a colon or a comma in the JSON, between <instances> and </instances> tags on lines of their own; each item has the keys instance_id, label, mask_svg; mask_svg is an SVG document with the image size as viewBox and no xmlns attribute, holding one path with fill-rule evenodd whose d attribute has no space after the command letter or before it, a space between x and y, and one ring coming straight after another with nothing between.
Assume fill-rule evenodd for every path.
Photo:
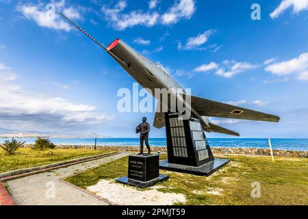
<instances>
[{"instance_id":1,"label":"whole bright blue sky with scattered white clouds behind the aircraft","mask_svg":"<svg viewBox=\"0 0 308 219\"><path fill-rule=\"evenodd\" d=\"M118 89L133 79L64 12L103 44L121 38L163 64L194 95L281 117L212 118L243 138L308 138L307 10L308 0L0 0L0 127L136 137L142 116L152 123L151 113L118 112Z\"/></svg>"}]
</instances>

